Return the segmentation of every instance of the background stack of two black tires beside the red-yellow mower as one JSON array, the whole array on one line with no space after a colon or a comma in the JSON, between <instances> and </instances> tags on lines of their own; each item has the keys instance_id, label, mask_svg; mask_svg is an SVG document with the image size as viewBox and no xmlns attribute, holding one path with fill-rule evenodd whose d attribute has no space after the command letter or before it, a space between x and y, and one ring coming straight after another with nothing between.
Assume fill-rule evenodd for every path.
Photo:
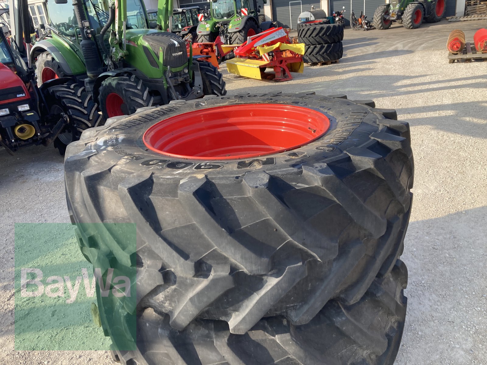
<instances>
[{"instance_id":1,"label":"background stack of two black tires beside the red-yellow mower","mask_svg":"<svg viewBox=\"0 0 487 365\"><path fill-rule=\"evenodd\" d=\"M305 45L304 62L330 62L343 56L342 24L330 24L328 19L305 21L298 24L298 38Z\"/></svg>"}]
</instances>

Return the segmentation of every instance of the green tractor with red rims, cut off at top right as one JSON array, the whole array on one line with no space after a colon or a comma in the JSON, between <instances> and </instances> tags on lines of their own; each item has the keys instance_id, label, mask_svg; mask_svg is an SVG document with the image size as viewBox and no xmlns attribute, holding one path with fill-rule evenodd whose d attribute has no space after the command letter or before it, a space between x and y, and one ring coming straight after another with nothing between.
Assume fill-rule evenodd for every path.
<instances>
[{"instance_id":1,"label":"green tractor with red rims, cut off at top right","mask_svg":"<svg viewBox=\"0 0 487 365\"><path fill-rule=\"evenodd\" d=\"M445 0L393 0L375 10L374 26L375 29L389 29L397 21L406 29L416 29L424 21L440 21L445 15L445 9Z\"/></svg>"}]
</instances>

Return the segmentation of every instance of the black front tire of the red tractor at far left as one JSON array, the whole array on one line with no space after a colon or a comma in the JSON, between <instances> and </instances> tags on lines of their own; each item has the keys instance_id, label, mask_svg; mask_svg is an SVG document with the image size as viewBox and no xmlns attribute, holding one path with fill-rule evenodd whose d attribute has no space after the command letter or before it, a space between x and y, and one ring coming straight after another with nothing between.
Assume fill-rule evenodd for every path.
<instances>
[{"instance_id":1,"label":"black front tire of the red tractor at far left","mask_svg":"<svg viewBox=\"0 0 487 365\"><path fill-rule=\"evenodd\" d=\"M98 104L84 86L74 82L52 86L45 96L52 114L63 112L69 119L68 125L61 130L53 143L61 155L64 155L66 146L79 140L84 130L105 123L105 119L98 113Z\"/></svg>"}]
</instances>

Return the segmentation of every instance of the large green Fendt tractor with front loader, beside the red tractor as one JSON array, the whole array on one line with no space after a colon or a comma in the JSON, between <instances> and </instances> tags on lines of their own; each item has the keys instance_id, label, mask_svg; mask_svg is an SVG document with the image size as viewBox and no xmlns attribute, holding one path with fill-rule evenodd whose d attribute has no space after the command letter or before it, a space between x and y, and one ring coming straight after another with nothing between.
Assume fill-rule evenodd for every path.
<instances>
[{"instance_id":1,"label":"large green Fendt tractor with front loader, beside the red tractor","mask_svg":"<svg viewBox=\"0 0 487 365\"><path fill-rule=\"evenodd\" d=\"M47 8L51 36L31 52L38 83L70 76L98 101L105 118L226 93L221 73L188 57L181 37L150 29L140 0L49 0ZM172 0L160 0L158 8L158 24L168 29Z\"/></svg>"}]
</instances>

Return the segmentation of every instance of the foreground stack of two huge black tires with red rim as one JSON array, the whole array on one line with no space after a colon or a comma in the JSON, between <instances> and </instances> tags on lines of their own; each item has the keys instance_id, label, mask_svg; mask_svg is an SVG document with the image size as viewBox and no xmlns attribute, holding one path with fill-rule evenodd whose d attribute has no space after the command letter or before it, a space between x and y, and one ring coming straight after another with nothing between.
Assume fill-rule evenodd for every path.
<instances>
[{"instance_id":1,"label":"foreground stack of two huge black tires with red rim","mask_svg":"<svg viewBox=\"0 0 487 365\"><path fill-rule=\"evenodd\" d=\"M267 92L144 108L83 133L65 159L80 248L137 271L136 305L113 297L101 315L105 333L106 315L136 317L137 349L113 357L393 364L413 183L396 118L370 100ZM134 223L136 252L84 222Z\"/></svg>"}]
</instances>

